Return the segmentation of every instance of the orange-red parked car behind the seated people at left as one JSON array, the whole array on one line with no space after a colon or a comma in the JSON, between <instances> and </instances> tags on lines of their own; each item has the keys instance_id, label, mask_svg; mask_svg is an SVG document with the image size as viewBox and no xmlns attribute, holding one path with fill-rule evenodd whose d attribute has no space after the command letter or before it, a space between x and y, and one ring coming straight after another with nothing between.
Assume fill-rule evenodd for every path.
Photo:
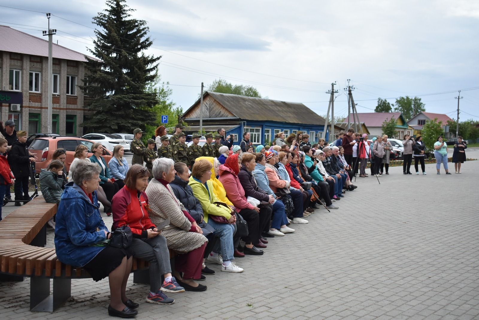
<instances>
[{"instance_id":1,"label":"orange-red parked car behind the seated people at left","mask_svg":"<svg viewBox=\"0 0 479 320\"><path fill-rule=\"evenodd\" d=\"M93 143L93 141L82 137L41 137L34 139L30 147L28 147L28 150L36 155L38 160L35 161L35 172L40 173L42 169L46 169L50 162L52 162L52 154L56 149L65 149L67 151L65 165L68 171L70 169L71 162L73 162L73 159L75 158L75 148L82 144L88 148L88 151L91 151L91 146ZM91 155L93 155L93 153L88 152L88 157L91 157ZM103 158L105 158L106 163L108 163L108 161L112 159L112 153L103 148Z\"/></svg>"}]
</instances>

